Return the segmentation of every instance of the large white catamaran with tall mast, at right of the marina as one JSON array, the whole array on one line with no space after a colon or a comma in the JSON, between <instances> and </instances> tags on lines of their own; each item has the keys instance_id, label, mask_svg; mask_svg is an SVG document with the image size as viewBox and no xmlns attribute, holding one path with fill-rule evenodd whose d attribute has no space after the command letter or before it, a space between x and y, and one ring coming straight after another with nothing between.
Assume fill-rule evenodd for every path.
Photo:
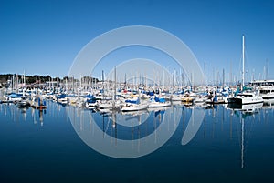
<instances>
[{"instance_id":1,"label":"large white catamaran with tall mast, at right of the marina","mask_svg":"<svg viewBox=\"0 0 274 183\"><path fill-rule=\"evenodd\" d=\"M263 98L259 96L259 92L245 90L245 36L243 36L243 70L242 70L242 84L241 84L241 93L238 93L237 96L228 97L228 103L245 105L245 104L255 104L262 103Z\"/></svg>"}]
</instances>

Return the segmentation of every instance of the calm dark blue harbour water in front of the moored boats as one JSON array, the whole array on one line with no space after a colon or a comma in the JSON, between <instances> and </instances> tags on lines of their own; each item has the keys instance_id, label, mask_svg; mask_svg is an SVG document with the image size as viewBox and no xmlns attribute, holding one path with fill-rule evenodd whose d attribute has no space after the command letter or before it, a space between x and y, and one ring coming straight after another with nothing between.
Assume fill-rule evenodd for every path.
<instances>
[{"instance_id":1,"label":"calm dark blue harbour water in front of the moored boats","mask_svg":"<svg viewBox=\"0 0 274 183\"><path fill-rule=\"evenodd\" d=\"M274 107L242 113L226 106L177 105L122 115L50 101L47 107L39 111L0 104L0 182L269 182L274 178ZM121 141L132 147L121 152ZM144 152L156 145L152 153ZM99 149L104 146L107 152ZM111 157L140 157L111 158L100 150Z\"/></svg>"}]
</instances>

